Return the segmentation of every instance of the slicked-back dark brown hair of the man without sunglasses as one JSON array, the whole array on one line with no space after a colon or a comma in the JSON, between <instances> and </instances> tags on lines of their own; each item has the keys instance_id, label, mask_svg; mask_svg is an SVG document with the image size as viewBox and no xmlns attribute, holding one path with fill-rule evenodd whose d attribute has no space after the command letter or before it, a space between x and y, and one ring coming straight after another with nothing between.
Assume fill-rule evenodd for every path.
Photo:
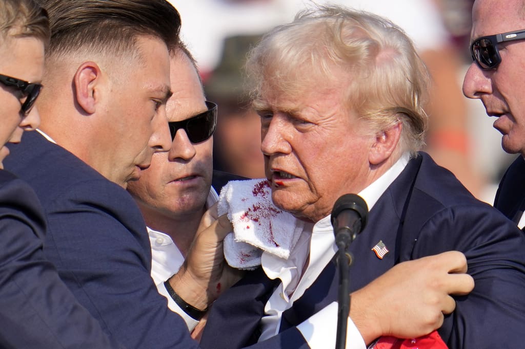
<instances>
[{"instance_id":1,"label":"slicked-back dark brown hair of the man without sunglasses","mask_svg":"<svg viewBox=\"0 0 525 349\"><path fill-rule=\"evenodd\" d=\"M138 36L153 36L174 50L181 17L165 0L37 0L49 13L48 56L81 49L119 54Z\"/></svg>"}]
</instances>

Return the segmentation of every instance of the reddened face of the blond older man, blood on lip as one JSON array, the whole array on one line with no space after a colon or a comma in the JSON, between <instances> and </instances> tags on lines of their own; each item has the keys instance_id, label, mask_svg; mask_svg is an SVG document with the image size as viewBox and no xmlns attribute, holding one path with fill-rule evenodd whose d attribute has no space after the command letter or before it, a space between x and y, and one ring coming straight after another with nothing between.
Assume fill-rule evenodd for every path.
<instances>
[{"instance_id":1,"label":"reddened face of the blond older man, blood on lip","mask_svg":"<svg viewBox=\"0 0 525 349\"><path fill-rule=\"evenodd\" d=\"M292 99L267 86L256 105L272 199L313 222L330 214L340 195L370 183L374 137L344 106L344 90L343 82L319 84Z\"/></svg>"}]
</instances>

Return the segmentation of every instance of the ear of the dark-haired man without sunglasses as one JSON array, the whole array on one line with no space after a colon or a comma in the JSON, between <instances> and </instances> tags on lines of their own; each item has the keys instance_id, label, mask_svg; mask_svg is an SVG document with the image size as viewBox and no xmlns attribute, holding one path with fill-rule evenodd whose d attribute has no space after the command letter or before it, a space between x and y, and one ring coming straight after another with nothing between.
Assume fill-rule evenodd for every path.
<instances>
[{"instance_id":1,"label":"ear of the dark-haired man without sunglasses","mask_svg":"<svg viewBox=\"0 0 525 349\"><path fill-rule=\"evenodd\" d=\"M95 113L100 80L101 70L95 62L82 63L75 73L76 102L88 114Z\"/></svg>"}]
</instances>

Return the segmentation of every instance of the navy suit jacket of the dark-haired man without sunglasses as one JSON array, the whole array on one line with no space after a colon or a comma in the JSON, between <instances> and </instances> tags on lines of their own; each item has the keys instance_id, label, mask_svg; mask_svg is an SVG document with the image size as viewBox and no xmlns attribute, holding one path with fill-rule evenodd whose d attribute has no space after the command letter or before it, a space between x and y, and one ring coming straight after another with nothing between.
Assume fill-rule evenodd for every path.
<instances>
[{"instance_id":1,"label":"navy suit jacket of the dark-haired man without sunglasses","mask_svg":"<svg viewBox=\"0 0 525 349\"><path fill-rule=\"evenodd\" d=\"M9 149L6 169L43 205L46 258L102 329L129 348L197 347L151 279L150 242L131 195L37 132Z\"/></svg>"}]
</instances>

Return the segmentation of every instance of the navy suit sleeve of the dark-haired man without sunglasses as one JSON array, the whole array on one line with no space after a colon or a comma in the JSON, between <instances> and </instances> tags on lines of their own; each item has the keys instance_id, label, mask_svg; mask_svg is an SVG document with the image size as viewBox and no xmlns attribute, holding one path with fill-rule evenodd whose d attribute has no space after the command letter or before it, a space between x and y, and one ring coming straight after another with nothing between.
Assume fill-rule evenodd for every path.
<instances>
[{"instance_id":1,"label":"navy suit sleeve of the dark-haired man without sunglasses","mask_svg":"<svg viewBox=\"0 0 525 349\"><path fill-rule=\"evenodd\" d=\"M197 347L153 283L148 234L126 191L76 183L46 213L46 256L104 330L129 348Z\"/></svg>"}]
</instances>

